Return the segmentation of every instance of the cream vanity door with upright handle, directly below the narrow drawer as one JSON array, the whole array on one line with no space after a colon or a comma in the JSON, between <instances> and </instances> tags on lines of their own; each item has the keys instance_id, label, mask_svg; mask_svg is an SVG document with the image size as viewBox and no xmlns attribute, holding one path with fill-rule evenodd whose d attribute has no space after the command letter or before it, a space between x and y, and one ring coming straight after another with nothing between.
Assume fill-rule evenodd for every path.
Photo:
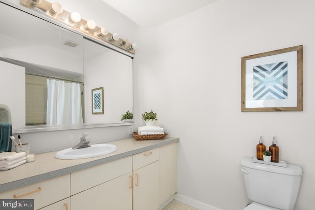
<instances>
[{"instance_id":1,"label":"cream vanity door with upright handle, directly below the narrow drawer","mask_svg":"<svg viewBox=\"0 0 315 210\"><path fill-rule=\"evenodd\" d=\"M133 172L133 210L159 208L159 161Z\"/></svg>"}]
</instances>

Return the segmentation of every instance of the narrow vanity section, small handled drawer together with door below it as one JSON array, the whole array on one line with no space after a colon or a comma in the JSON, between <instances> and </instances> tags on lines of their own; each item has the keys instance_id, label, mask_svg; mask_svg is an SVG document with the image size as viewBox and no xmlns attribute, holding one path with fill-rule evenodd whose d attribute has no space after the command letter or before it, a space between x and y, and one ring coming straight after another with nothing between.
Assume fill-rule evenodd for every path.
<instances>
[{"instance_id":1,"label":"narrow vanity section, small handled drawer together with door below it","mask_svg":"<svg viewBox=\"0 0 315 210\"><path fill-rule=\"evenodd\" d=\"M159 208L159 148L132 157L133 210Z\"/></svg>"}]
</instances>

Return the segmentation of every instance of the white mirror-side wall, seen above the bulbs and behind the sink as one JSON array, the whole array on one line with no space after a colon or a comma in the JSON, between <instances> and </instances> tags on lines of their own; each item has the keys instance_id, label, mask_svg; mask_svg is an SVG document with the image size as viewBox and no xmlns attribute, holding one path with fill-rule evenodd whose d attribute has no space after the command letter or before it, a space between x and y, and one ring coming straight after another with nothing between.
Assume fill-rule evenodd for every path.
<instances>
[{"instance_id":1,"label":"white mirror-side wall, seen above the bulbs and behind the sink","mask_svg":"<svg viewBox=\"0 0 315 210\"><path fill-rule=\"evenodd\" d=\"M17 5L20 4L20 0L8 1ZM50 0L48 1L54 2ZM123 14L105 4L102 0L59 0L59 2L63 5L65 10L69 12L79 12L83 19L93 19L97 26L104 26L109 32L118 33L122 38L127 38L130 42L136 42L136 24L126 18ZM14 18L14 16L10 18ZM79 142L80 135L83 132L89 133L88 137L92 143L101 143L132 137L132 135L128 135L128 126L23 133L20 135L23 143L30 143L32 153L41 153L72 147Z\"/></svg>"}]
</instances>

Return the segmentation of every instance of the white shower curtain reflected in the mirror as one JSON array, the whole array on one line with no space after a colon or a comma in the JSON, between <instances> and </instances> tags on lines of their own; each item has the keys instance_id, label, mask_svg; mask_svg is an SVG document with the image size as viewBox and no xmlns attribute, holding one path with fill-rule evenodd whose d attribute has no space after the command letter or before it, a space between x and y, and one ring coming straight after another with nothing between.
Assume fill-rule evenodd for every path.
<instances>
[{"instance_id":1,"label":"white shower curtain reflected in the mirror","mask_svg":"<svg viewBox=\"0 0 315 210\"><path fill-rule=\"evenodd\" d=\"M47 79L47 125L82 124L79 83Z\"/></svg>"}]
</instances>

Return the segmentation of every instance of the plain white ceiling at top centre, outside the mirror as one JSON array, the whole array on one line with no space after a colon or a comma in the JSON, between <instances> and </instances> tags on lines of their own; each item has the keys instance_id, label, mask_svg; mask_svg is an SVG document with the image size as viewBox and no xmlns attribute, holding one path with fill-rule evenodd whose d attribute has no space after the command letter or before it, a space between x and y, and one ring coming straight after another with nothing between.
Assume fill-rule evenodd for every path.
<instances>
[{"instance_id":1,"label":"plain white ceiling at top centre, outside the mirror","mask_svg":"<svg viewBox=\"0 0 315 210\"><path fill-rule=\"evenodd\" d=\"M140 26L162 25L216 0L103 0Z\"/></svg>"}]
</instances>

